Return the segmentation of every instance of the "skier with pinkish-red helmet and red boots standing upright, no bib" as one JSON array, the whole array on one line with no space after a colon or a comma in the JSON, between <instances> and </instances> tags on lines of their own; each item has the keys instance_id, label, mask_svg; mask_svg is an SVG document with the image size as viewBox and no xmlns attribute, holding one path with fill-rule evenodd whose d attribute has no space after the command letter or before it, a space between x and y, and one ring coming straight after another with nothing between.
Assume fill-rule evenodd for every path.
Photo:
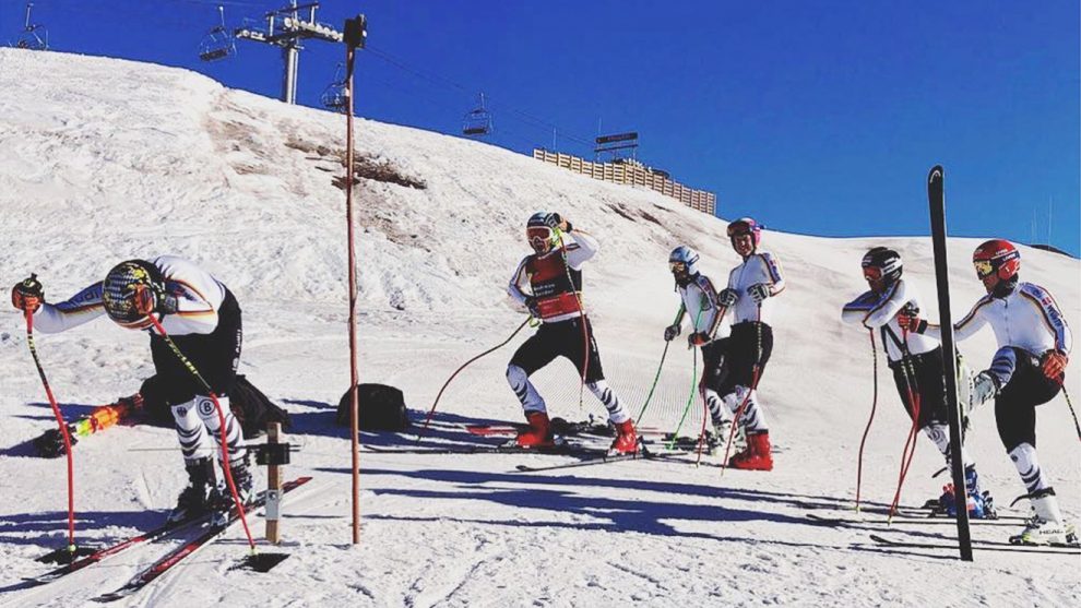
<instances>
[{"instance_id":1,"label":"skier with pinkish-red helmet and red boots standing upright, no bib","mask_svg":"<svg viewBox=\"0 0 1081 608\"><path fill-rule=\"evenodd\" d=\"M758 401L758 384L773 351L773 329L769 324L772 299L784 290L781 263L761 251L762 227L750 217L728 224L732 248L743 263L728 273L728 286L717 295L717 303L732 310L728 337L728 377L720 393L747 437L747 448L728 466L750 470L772 470L773 454L765 410Z\"/></svg>"}]
</instances>

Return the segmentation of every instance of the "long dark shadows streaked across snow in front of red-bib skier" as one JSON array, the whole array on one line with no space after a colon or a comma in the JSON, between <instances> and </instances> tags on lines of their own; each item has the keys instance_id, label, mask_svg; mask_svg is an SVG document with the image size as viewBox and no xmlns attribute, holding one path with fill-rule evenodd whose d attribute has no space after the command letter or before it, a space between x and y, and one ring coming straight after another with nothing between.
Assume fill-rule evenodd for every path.
<instances>
[{"instance_id":1,"label":"long dark shadows streaked across snow in front of red-bib skier","mask_svg":"<svg viewBox=\"0 0 1081 608\"><path fill-rule=\"evenodd\" d=\"M341 469L323 470L346 473ZM801 516L762 511L760 509L755 509L752 505L744 509L732 504L736 501L747 501L751 504L753 504L753 502L771 502L796 505L796 503L799 502L798 498L773 492L762 492L758 490L740 490L717 488L714 486L672 484L665 481L596 479L573 476L544 477L526 474L479 473L473 470L391 470L365 468L364 474L368 476L406 476L429 481L440 481L455 485L455 488L451 490L425 490L402 489L396 487L373 488L369 484L369 490L380 494L403 496L423 500L476 500L502 504L515 509L553 511L559 513L560 515L573 514L592 520L606 521L597 521L595 523L565 521L523 522L521 520L470 520L465 517L414 517L408 515L368 515L368 518L417 522L449 520L507 526L639 532L660 536L681 536L734 541L747 541L747 538L741 536L722 537L703 532L679 530L674 527L674 524L668 522L708 522L713 524L717 522L767 521L780 524L810 525L808 520ZM527 487L485 486L487 484L514 484L526 485ZM642 498L625 500L603 496L583 496L581 492L574 491L573 489L563 489L559 486L618 487L621 489L640 490L643 493L641 494ZM652 500L646 498L651 494L645 494L644 492L652 492L664 497L673 497L676 494L708 497L714 500L709 504L680 504L678 499ZM760 543L818 548L823 546L820 543L801 544L782 540L760 540Z\"/></svg>"}]
</instances>

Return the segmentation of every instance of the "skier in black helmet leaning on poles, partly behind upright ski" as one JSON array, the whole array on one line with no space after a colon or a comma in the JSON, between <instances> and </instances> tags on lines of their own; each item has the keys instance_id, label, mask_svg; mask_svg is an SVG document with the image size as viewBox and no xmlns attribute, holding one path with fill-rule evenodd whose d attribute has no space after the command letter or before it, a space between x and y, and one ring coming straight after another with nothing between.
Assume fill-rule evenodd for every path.
<instances>
[{"instance_id":1,"label":"skier in black helmet leaning on poles, partly behind upright ski","mask_svg":"<svg viewBox=\"0 0 1081 608\"><path fill-rule=\"evenodd\" d=\"M868 330L878 330L886 349L887 363L893 372L901 403L908 417L917 415L917 426L950 463L950 428L947 417L946 379L942 375L942 346L939 341L905 331L898 322L904 311L918 311L922 302L915 284L902 278L901 254L888 247L875 247L860 260L864 278L870 289L846 303L841 319ZM967 367L965 367L967 369ZM961 448L967 504L971 517L995 517L990 493L981 491L976 463L969 450ZM958 501L948 486L939 498L940 509L957 515Z\"/></svg>"}]
</instances>

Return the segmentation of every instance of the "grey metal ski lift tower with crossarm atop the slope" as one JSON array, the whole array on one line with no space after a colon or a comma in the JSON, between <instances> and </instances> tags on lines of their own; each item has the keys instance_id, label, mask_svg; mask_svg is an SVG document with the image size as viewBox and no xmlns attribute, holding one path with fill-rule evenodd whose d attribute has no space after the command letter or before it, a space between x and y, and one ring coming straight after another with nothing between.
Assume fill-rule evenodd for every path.
<instances>
[{"instance_id":1,"label":"grey metal ski lift tower with crossarm atop the slope","mask_svg":"<svg viewBox=\"0 0 1081 608\"><path fill-rule=\"evenodd\" d=\"M282 79L282 100L286 104L297 103L297 70L299 68L300 41L307 38L343 43L344 35L334 27L316 21L316 9L319 2L297 4L290 0L289 5L266 13L266 28L239 27L233 35L241 40L252 40L281 47L282 59L285 62L285 74ZM300 11L308 11L308 19L300 17Z\"/></svg>"}]
</instances>

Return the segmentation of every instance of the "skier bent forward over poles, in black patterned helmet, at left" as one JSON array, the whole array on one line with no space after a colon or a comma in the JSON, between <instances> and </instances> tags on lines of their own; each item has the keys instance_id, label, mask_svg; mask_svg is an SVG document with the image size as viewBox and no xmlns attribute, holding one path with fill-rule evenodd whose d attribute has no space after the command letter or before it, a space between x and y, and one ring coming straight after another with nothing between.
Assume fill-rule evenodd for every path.
<instances>
[{"instance_id":1,"label":"skier bent forward over poles, in black patterned helmet, at left","mask_svg":"<svg viewBox=\"0 0 1081 608\"><path fill-rule=\"evenodd\" d=\"M34 327L58 333L107 314L121 327L147 331L151 355L164 396L176 420L177 439L188 472L188 487L180 492L169 521L179 522L209 511L224 520L233 499L219 486L214 472L214 442L221 457L221 422L205 388L155 333L149 315L162 324L176 347L210 384L225 416L226 442L234 484L242 502L252 498L252 478L240 424L229 408L240 360L242 330L240 306L217 279L181 258L163 255L146 262L129 260L115 266L105 281L95 283L57 305L45 301L36 281L16 284L11 291L15 308L34 315Z\"/></svg>"}]
</instances>

